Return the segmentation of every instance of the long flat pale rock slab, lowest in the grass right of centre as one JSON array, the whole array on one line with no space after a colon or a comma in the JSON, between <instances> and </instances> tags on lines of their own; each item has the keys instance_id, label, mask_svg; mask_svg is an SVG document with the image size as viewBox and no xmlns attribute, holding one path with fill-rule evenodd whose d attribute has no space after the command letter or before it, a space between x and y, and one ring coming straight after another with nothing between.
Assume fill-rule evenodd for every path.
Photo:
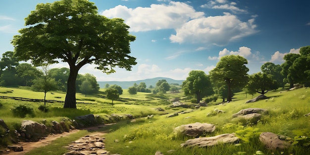
<instances>
[{"instance_id":1,"label":"long flat pale rock slab, lowest in the grass right of centre","mask_svg":"<svg viewBox=\"0 0 310 155\"><path fill-rule=\"evenodd\" d=\"M209 147L217 144L235 143L239 138L233 134L221 134L214 137L202 137L187 140L181 147Z\"/></svg>"}]
</instances>

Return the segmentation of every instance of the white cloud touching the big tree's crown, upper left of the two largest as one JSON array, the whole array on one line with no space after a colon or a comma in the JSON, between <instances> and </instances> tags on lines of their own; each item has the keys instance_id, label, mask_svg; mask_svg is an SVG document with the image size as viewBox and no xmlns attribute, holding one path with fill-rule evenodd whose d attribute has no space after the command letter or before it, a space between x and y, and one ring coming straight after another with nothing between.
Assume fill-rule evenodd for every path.
<instances>
[{"instance_id":1,"label":"white cloud touching the big tree's crown, upper left of the two largest","mask_svg":"<svg viewBox=\"0 0 310 155\"><path fill-rule=\"evenodd\" d=\"M150 7L127 8L123 5L104 10L102 15L108 18L123 18L130 31L150 31L175 29L190 19L202 17L192 6L178 1L168 4L152 4Z\"/></svg>"}]
</instances>

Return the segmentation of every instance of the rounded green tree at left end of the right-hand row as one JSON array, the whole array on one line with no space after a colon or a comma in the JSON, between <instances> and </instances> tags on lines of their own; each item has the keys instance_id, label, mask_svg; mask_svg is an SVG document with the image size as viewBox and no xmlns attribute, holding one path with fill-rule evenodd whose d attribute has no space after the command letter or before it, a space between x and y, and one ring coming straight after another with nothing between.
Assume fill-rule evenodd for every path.
<instances>
[{"instance_id":1,"label":"rounded green tree at left end of the right-hand row","mask_svg":"<svg viewBox=\"0 0 310 155\"><path fill-rule=\"evenodd\" d=\"M186 96L196 96L197 103L212 90L210 78L202 70L192 70L183 81L182 88ZM213 92L213 91L211 91Z\"/></svg>"}]
</instances>

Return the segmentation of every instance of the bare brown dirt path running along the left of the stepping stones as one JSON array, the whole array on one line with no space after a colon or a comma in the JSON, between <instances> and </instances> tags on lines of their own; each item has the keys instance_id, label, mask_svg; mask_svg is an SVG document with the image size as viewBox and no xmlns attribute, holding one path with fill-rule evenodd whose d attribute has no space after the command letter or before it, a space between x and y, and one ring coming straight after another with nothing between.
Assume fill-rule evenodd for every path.
<instances>
[{"instance_id":1,"label":"bare brown dirt path running along the left of the stepping stones","mask_svg":"<svg viewBox=\"0 0 310 155\"><path fill-rule=\"evenodd\" d=\"M98 128L102 128L104 126L107 126L107 125L100 125L100 126L89 127L89 128L84 128L82 130L96 131L96 130L98 130ZM61 134L49 135L48 137L45 137L44 139L41 139L38 142L20 142L16 146L22 146L24 151L22 151L22 152L10 151L10 152L5 153L3 155L25 155L26 153L30 152L33 149L44 147L44 146L47 146L47 145L51 144L52 141L57 139L57 138L66 137L66 136L69 136L70 134L76 133L78 131L79 130L71 130L70 132L63 132ZM105 134L104 132L94 132L94 133L91 133L90 135L102 136L104 134Z\"/></svg>"}]
</instances>

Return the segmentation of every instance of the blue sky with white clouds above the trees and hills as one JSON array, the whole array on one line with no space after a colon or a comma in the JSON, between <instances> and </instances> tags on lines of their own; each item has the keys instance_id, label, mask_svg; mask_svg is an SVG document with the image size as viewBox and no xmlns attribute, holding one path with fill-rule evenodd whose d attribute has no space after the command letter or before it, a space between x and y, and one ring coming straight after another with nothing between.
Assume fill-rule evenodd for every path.
<instances>
[{"instance_id":1,"label":"blue sky with white clouds above the trees and hills","mask_svg":"<svg viewBox=\"0 0 310 155\"><path fill-rule=\"evenodd\" d=\"M0 54L37 3L54 0L1 0ZM282 64L287 53L310 45L310 1L299 0L90 0L101 15L123 18L136 41L132 71L106 75L94 65L81 68L97 81L135 81L154 77L184 80L191 70L208 72L221 56L248 59L249 74L265 62ZM68 67L65 63L52 67Z\"/></svg>"}]
</instances>

